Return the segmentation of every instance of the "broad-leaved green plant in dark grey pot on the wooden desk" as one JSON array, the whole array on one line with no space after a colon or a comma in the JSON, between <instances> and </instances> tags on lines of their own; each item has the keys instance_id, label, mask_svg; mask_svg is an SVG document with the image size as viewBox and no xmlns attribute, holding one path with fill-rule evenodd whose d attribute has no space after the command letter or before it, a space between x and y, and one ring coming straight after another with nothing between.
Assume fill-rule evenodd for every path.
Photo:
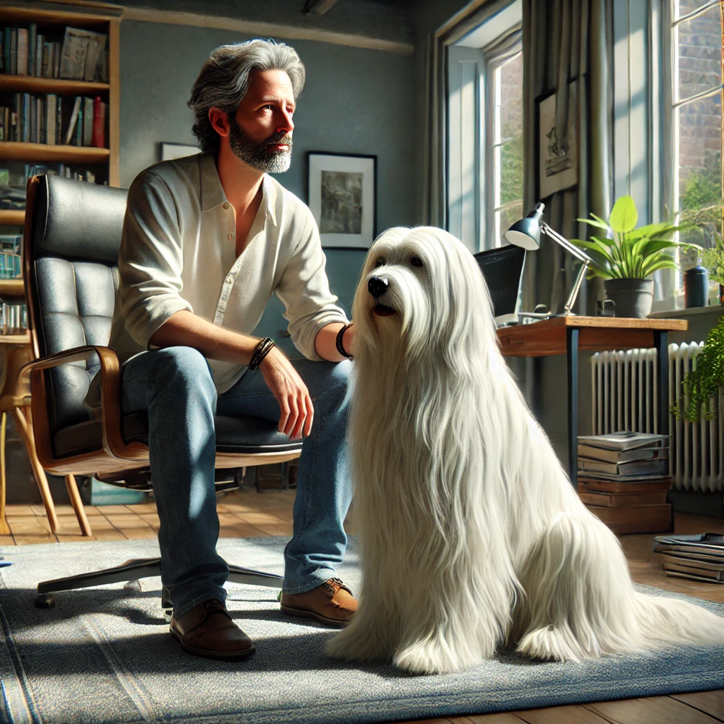
<instances>
[{"instance_id":1,"label":"broad-leaved green plant in dark grey pot on the wooden desk","mask_svg":"<svg viewBox=\"0 0 724 724\"><path fill-rule=\"evenodd\" d=\"M674 240L675 234L688 229L689 224L670 222L647 224L636 228L639 212L631 196L621 196L611 209L608 221L596 214L591 219L578 219L599 229L590 241L571 239L589 251L594 263L589 279L602 277L606 297L616 304L616 316L643 318L651 313L654 301L654 280L649 277L657 269L675 269L676 261L667 250L696 244Z\"/></svg>"}]
</instances>

